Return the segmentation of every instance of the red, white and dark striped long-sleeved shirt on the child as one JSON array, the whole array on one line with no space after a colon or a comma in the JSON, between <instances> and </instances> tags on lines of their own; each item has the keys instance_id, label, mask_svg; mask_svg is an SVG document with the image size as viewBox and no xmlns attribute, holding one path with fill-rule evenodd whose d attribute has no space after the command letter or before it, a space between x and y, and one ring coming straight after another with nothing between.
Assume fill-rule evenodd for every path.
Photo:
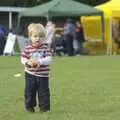
<instances>
[{"instance_id":1,"label":"red, white and dark striped long-sleeved shirt on the child","mask_svg":"<svg viewBox=\"0 0 120 120\"><path fill-rule=\"evenodd\" d=\"M30 58L37 58L40 61L39 67L27 69L25 63ZM51 51L47 44L41 44L39 47L28 45L21 54L21 62L24 64L27 73L40 77L48 77L50 70L49 65L51 63Z\"/></svg>"}]
</instances>

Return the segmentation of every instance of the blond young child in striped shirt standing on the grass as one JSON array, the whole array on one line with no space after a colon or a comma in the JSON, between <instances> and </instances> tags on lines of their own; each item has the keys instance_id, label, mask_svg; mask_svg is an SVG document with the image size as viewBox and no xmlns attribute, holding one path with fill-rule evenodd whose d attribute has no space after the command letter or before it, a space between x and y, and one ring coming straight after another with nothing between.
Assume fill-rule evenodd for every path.
<instances>
[{"instance_id":1,"label":"blond young child in striped shirt standing on the grass","mask_svg":"<svg viewBox=\"0 0 120 120\"><path fill-rule=\"evenodd\" d=\"M45 43L45 28L39 23L28 26L28 37L31 44L21 54L25 67L25 108L35 112L36 94L40 111L50 110L49 65L51 52Z\"/></svg>"}]
</instances>

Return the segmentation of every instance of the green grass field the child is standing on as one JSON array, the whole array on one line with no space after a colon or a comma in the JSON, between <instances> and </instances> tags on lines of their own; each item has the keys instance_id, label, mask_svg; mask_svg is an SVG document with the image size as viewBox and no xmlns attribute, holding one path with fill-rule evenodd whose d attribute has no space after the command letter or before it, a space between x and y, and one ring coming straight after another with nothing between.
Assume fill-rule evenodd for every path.
<instances>
[{"instance_id":1,"label":"green grass field the child is standing on","mask_svg":"<svg viewBox=\"0 0 120 120\"><path fill-rule=\"evenodd\" d=\"M56 57L51 68L51 111L31 114L20 58L0 57L0 120L120 120L120 56Z\"/></svg>"}]
</instances>

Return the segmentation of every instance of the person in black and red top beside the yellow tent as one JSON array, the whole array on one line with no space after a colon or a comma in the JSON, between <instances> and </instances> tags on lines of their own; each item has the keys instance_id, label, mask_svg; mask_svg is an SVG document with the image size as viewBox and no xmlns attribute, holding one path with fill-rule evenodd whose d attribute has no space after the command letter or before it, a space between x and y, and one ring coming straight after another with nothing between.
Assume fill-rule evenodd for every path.
<instances>
[{"instance_id":1,"label":"person in black and red top beside the yellow tent","mask_svg":"<svg viewBox=\"0 0 120 120\"><path fill-rule=\"evenodd\" d=\"M78 44L77 53L83 54L84 52L83 43L85 41L85 38L84 38L83 27L79 21L76 22L75 39L77 40L77 44Z\"/></svg>"}]
</instances>

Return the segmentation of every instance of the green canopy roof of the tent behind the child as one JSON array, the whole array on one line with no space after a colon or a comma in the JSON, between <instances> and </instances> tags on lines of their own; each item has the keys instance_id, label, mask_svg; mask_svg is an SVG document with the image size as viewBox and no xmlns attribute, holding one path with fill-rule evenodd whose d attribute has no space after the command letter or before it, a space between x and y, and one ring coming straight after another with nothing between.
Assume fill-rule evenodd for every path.
<instances>
[{"instance_id":1,"label":"green canopy roof of the tent behind the child","mask_svg":"<svg viewBox=\"0 0 120 120\"><path fill-rule=\"evenodd\" d=\"M28 8L19 13L20 16L82 16L101 15L102 12L96 8L73 1L73 0L52 0L48 3Z\"/></svg>"}]
</instances>

